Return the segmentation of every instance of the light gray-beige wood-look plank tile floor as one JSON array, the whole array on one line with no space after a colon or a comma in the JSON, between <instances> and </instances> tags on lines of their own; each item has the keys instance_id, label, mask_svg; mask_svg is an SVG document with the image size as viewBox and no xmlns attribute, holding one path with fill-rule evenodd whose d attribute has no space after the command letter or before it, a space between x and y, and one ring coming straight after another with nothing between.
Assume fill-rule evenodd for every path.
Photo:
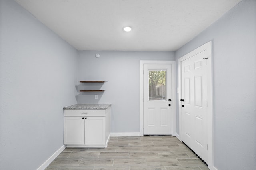
<instances>
[{"instance_id":1,"label":"light gray-beige wood-look plank tile floor","mask_svg":"<svg viewBox=\"0 0 256 170\"><path fill-rule=\"evenodd\" d=\"M173 136L111 137L107 148L66 148L46 170L208 170Z\"/></svg>"}]
</instances>

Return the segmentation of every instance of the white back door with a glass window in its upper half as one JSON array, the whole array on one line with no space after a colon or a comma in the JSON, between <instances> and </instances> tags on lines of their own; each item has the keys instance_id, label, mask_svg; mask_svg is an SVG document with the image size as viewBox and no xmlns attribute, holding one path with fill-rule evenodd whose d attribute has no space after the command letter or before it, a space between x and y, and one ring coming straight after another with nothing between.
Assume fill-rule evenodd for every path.
<instances>
[{"instance_id":1,"label":"white back door with a glass window in its upper half","mask_svg":"<svg viewBox=\"0 0 256 170\"><path fill-rule=\"evenodd\" d=\"M144 134L172 134L172 65L144 64Z\"/></svg>"}]
</instances>

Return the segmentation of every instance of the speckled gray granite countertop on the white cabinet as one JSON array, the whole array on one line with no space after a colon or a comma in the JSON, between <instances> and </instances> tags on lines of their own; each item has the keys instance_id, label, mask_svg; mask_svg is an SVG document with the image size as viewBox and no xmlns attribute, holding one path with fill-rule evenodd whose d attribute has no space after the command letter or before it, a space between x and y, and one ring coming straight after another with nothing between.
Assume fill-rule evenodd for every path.
<instances>
[{"instance_id":1,"label":"speckled gray granite countertop on the white cabinet","mask_svg":"<svg viewBox=\"0 0 256 170\"><path fill-rule=\"evenodd\" d=\"M63 107L63 109L85 109L85 110L105 110L110 107L111 104L100 104L100 103L77 103L75 105Z\"/></svg>"}]
</instances>

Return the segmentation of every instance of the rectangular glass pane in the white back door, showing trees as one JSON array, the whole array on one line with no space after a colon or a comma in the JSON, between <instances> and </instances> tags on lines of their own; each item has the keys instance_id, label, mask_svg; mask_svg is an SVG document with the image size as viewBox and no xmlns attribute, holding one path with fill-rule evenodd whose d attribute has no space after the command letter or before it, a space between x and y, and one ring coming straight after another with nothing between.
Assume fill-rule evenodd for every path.
<instances>
[{"instance_id":1,"label":"rectangular glass pane in the white back door, showing trees","mask_svg":"<svg viewBox=\"0 0 256 170\"><path fill-rule=\"evenodd\" d=\"M166 71L149 70L148 71L148 100L161 101L166 100Z\"/></svg>"}]
</instances>

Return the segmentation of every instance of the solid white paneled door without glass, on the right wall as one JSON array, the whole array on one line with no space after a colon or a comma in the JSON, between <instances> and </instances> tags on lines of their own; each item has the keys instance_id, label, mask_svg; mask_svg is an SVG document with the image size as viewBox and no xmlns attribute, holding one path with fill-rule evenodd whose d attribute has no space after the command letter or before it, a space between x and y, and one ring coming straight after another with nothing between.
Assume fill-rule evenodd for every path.
<instances>
[{"instance_id":1,"label":"solid white paneled door without glass, on the right wall","mask_svg":"<svg viewBox=\"0 0 256 170\"><path fill-rule=\"evenodd\" d=\"M207 59L202 51L181 63L182 140L208 162Z\"/></svg>"}]
</instances>

